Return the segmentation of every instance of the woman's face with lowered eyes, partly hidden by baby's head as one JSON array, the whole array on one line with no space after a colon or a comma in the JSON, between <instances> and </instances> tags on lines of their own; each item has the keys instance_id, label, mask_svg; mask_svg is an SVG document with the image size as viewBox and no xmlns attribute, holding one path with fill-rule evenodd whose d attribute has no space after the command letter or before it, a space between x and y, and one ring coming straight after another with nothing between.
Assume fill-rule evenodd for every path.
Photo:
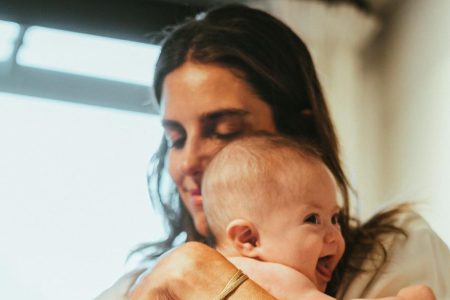
<instances>
[{"instance_id":1,"label":"woman's face with lowered eyes, partly hidden by baby's head","mask_svg":"<svg viewBox=\"0 0 450 300\"><path fill-rule=\"evenodd\" d=\"M170 176L197 231L206 235L201 195L205 167L222 147L241 135L276 132L272 111L230 70L192 62L167 75L161 103Z\"/></svg>"}]
</instances>

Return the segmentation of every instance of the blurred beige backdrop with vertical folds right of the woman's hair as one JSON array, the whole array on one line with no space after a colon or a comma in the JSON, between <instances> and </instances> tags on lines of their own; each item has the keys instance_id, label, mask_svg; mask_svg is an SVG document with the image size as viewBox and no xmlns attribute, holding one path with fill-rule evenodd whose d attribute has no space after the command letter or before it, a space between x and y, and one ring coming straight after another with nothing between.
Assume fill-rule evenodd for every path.
<instances>
[{"instance_id":1,"label":"blurred beige backdrop with vertical folds right of the woman's hair","mask_svg":"<svg viewBox=\"0 0 450 300\"><path fill-rule=\"evenodd\" d=\"M367 218L395 201L450 244L450 1L405 0L389 22L348 5L251 1L290 25L316 62Z\"/></svg>"}]
</instances>

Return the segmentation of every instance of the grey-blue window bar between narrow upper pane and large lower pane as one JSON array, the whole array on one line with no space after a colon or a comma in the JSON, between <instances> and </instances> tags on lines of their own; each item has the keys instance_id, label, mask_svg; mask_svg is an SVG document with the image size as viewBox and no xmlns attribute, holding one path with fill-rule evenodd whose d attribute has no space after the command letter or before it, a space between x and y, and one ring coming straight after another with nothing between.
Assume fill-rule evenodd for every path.
<instances>
[{"instance_id":1,"label":"grey-blue window bar between narrow upper pane and large lower pane","mask_svg":"<svg viewBox=\"0 0 450 300\"><path fill-rule=\"evenodd\" d=\"M0 63L0 70L2 67ZM148 86L19 65L0 74L0 92L156 113Z\"/></svg>"}]
</instances>

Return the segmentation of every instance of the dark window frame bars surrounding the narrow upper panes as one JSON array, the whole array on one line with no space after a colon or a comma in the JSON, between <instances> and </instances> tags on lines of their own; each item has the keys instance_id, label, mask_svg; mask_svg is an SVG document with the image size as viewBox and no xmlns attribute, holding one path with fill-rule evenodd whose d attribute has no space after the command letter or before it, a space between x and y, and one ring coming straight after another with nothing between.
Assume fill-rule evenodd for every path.
<instances>
[{"instance_id":1,"label":"dark window frame bars surrounding the narrow upper panes","mask_svg":"<svg viewBox=\"0 0 450 300\"><path fill-rule=\"evenodd\" d=\"M0 19L19 23L23 30L37 25L150 42L149 33L160 32L202 9L201 5L154 0L0 0ZM20 44L18 39L16 46ZM15 55L0 63L0 92L156 112L148 86L20 66L15 63Z\"/></svg>"}]
</instances>

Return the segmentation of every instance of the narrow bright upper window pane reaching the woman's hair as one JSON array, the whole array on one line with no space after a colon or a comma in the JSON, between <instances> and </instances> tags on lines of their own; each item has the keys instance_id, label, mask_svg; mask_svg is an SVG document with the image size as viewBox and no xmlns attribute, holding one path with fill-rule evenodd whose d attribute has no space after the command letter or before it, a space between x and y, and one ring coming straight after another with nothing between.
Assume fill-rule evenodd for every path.
<instances>
[{"instance_id":1,"label":"narrow bright upper window pane reaching the woman's hair","mask_svg":"<svg viewBox=\"0 0 450 300\"><path fill-rule=\"evenodd\" d=\"M17 63L148 86L159 50L151 44L33 26L25 33Z\"/></svg>"}]
</instances>

